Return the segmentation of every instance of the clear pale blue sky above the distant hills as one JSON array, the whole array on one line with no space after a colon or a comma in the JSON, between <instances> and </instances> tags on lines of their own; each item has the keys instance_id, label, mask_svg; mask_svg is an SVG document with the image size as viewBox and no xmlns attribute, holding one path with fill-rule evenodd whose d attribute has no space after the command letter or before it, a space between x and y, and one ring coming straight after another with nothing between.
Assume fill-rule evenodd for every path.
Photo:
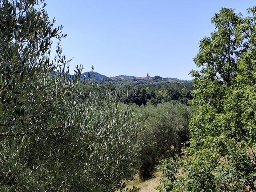
<instances>
[{"instance_id":1,"label":"clear pale blue sky above the distant hills","mask_svg":"<svg viewBox=\"0 0 256 192\"><path fill-rule=\"evenodd\" d=\"M68 34L62 40L70 69L106 76L132 75L191 80L198 43L214 30L221 7L246 9L254 0L46 0L46 10ZM72 72L71 72L72 73Z\"/></svg>"}]
</instances>

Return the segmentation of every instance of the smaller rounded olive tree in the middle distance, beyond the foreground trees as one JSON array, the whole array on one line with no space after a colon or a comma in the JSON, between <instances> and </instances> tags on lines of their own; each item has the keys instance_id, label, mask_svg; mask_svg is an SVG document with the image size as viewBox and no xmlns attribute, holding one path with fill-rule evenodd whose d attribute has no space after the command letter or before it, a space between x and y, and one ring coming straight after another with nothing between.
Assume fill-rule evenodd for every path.
<instances>
[{"instance_id":1,"label":"smaller rounded olive tree in the middle distance, beyond the foreground trees","mask_svg":"<svg viewBox=\"0 0 256 192\"><path fill-rule=\"evenodd\" d=\"M196 108L179 102L167 102L157 106L147 104L134 111L140 125L138 144L140 179L152 178L155 167L166 154L176 159L181 155L184 143L189 139L188 122Z\"/></svg>"}]
</instances>

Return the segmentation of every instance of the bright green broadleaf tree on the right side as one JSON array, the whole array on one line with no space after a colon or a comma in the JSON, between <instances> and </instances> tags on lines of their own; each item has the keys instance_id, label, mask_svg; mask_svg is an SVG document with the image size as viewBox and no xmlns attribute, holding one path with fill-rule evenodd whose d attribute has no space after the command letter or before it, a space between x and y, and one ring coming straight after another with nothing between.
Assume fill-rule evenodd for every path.
<instances>
[{"instance_id":1,"label":"bright green broadleaf tree on the right side","mask_svg":"<svg viewBox=\"0 0 256 192\"><path fill-rule=\"evenodd\" d=\"M166 191L256 192L256 7L248 14L222 8L200 42L190 148L164 166Z\"/></svg>"}]
</instances>

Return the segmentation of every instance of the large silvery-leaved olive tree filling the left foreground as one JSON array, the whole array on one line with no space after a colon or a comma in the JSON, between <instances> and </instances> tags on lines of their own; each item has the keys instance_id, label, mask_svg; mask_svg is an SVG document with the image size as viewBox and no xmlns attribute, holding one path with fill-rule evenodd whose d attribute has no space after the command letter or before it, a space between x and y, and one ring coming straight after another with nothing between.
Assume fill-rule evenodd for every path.
<instances>
[{"instance_id":1,"label":"large silvery-leaved olive tree filling the left foreground","mask_svg":"<svg viewBox=\"0 0 256 192\"><path fill-rule=\"evenodd\" d=\"M88 94L80 67L65 72L66 35L45 6L0 0L0 191L115 191L134 174L133 114Z\"/></svg>"}]
</instances>

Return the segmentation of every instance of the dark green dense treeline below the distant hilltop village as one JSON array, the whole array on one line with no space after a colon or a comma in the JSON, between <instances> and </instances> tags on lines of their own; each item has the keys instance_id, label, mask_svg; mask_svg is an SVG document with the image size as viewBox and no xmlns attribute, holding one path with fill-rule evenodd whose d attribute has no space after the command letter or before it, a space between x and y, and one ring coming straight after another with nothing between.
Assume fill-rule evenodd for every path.
<instances>
[{"instance_id":1,"label":"dark green dense treeline below the distant hilltop village","mask_svg":"<svg viewBox=\"0 0 256 192\"><path fill-rule=\"evenodd\" d=\"M181 84L146 84L138 86L116 87L112 83L105 85L88 86L88 92L97 86L99 92L115 96L124 104L136 104L138 106L150 103L157 105L162 102L178 101L183 104L188 104L192 99L191 90L193 89L192 82L184 82Z\"/></svg>"}]
</instances>

